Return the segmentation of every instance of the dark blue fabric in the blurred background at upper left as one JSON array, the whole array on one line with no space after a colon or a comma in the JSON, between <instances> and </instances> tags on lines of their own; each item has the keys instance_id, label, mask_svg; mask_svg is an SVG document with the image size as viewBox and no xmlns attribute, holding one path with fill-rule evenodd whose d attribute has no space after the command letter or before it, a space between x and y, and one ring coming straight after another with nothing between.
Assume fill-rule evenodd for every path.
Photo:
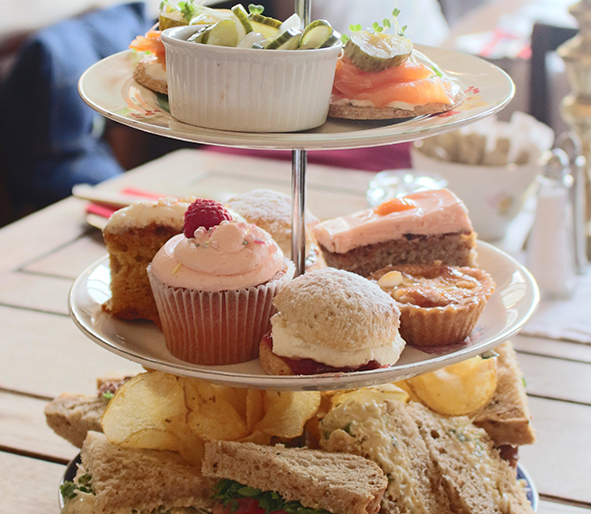
<instances>
[{"instance_id":1,"label":"dark blue fabric in the blurred background at upper left","mask_svg":"<svg viewBox=\"0 0 591 514\"><path fill-rule=\"evenodd\" d=\"M78 94L92 64L124 50L151 22L142 3L118 5L34 34L2 84L2 163L17 205L42 207L72 186L122 173L101 140L102 119Z\"/></svg>"}]
</instances>

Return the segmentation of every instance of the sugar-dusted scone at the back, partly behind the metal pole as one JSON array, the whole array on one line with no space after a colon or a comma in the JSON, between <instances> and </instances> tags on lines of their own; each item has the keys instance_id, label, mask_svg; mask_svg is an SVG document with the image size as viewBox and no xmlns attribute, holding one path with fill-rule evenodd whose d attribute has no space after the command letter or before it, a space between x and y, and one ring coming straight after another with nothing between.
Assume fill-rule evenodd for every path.
<instances>
[{"instance_id":1,"label":"sugar-dusted scone at the back, partly behind the metal pole","mask_svg":"<svg viewBox=\"0 0 591 514\"><path fill-rule=\"evenodd\" d=\"M291 198L270 189L254 189L233 196L226 207L248 222L269 232L283 255L291 258ZM306 210L306 271L326 268L312 227L318 219Z\"/></svg>"}]
</instances>

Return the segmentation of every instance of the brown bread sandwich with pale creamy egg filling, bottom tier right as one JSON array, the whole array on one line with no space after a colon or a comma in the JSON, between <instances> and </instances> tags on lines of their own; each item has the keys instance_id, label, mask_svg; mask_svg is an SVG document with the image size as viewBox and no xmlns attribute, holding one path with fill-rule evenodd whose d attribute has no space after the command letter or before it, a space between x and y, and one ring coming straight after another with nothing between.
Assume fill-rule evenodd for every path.
<instances>
[{"instance_id":1,"label":"brown bread sandwich with pale creamy egg filling, bottom tier right","mask_svg":"<svg viewBox=\"0 0 591 514\"><path fill-rule=\"evenodd\" d=\"M482 429L416 403L344 399L321 447L374 460L388 476L382 514L532 514L515 470Z\"/></svg>"}]
</instances>

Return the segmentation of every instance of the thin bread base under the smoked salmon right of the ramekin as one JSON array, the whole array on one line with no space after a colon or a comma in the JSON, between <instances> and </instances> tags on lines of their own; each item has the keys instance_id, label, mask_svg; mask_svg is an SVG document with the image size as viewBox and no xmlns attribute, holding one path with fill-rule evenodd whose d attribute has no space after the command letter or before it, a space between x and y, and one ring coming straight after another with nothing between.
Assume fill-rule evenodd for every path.
<instances>
[{"instance_id":1,"label":"thin bread base under the smoked salmon right of the ramekin","mask_svg":"<svg viewBox=\"0 0 591 514\"><path fill-rule=\"evenodd\" d=\"M331 118L344 118L349 120L391 120L398 118L415 118L416 116L427 116L451 111L458 107L466 98L466 95L457 88L451 104L430 103L417 105L410 111L397 107L360 107L356 105L334 105L331 104L328 116Z\"/></svg>"}]
</instances>

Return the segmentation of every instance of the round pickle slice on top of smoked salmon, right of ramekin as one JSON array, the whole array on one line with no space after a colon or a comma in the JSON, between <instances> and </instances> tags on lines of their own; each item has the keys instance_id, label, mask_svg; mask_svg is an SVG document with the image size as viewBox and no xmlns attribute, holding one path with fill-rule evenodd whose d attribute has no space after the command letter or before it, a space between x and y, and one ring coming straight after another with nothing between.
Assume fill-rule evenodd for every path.
<instances>
[{"instance_id":1,"label":"round pickle slice on top of smoked salmon, right of ramekin","mask_svg":"<svg viewBox=\"0 0 591 514\"><path fill-rule=\"evenodd\" d=\"M345 44L345 55L360 70L379 72L400 66L412 53L412 43L404 36L353 32Z\"/></svg>"}]
</instances>

